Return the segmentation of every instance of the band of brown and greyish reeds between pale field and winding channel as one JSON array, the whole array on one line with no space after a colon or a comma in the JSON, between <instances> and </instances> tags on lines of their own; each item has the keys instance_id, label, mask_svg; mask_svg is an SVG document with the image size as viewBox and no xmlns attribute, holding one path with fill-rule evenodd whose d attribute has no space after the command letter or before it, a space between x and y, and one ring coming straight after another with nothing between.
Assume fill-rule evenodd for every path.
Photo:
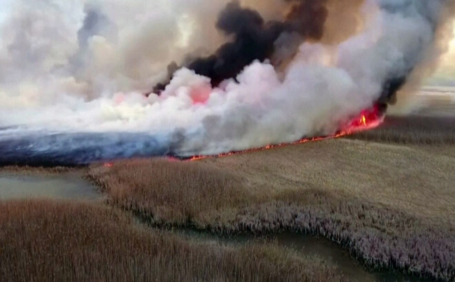
<instances>
[{"instance_id":1,"label":"band of brown and greyish reeds between pale field and winding channel","mask_svg":"<svg viewBox=\"0 0 455 282\"><path fill-rule=\"evenodd\" d=\"M166 160L93 165L89 177L108 193L110 203L152 224L185 224L218 234L305 232L338 242L374 268L444 281L455 277L453 227L441 230L340 191L295 188L258 196L236 174L205 163Z\"/></svg>"}]
</instances>

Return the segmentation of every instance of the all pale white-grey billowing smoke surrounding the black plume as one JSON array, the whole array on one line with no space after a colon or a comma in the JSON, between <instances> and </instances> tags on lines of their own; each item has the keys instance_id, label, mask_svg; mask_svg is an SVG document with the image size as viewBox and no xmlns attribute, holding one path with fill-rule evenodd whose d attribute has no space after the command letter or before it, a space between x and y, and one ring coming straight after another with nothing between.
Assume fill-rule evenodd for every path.
<instances>
[{"instance_id":1,"label":"all pale white-grey billowing smoke surrounding the black plume","mask_svg":"<svg viewBox=\"0 0 455 282\"><path fill-rule=\"evenodd\" d=\"M18 5L2 26L0 127L178 135L174 151L185 155L332 134L371 107L388 79L423 60L445 3L367 0L361 32L336 46L304 43L284 78L256 61L212 89L209 79L182 69L149 97L141 93L166 63L221 41L200 34L216 34L205 23L225 1ZM84 6L97 21L61 13Z\"/></svg>"}]
</instances>

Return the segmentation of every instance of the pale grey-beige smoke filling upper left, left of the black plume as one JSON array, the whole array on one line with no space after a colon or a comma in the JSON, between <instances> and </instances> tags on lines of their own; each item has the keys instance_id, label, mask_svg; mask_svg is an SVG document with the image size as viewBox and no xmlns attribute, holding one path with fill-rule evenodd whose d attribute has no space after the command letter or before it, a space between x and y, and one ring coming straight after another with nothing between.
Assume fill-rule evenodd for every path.
<instances>
[{"instance_id":1,"label":"pale grey-beige smoke filling upper left, left of the black plume","mask_svg":"<svg viewBox=\"0 0 455 282\"><path fill-rule=\"evenodd\" d=\"M0 26L1 89L43 104L56 93L150 90L170 61L219 45L214 21L226 2L14 1Z\"/></svg>"}]
</instances>

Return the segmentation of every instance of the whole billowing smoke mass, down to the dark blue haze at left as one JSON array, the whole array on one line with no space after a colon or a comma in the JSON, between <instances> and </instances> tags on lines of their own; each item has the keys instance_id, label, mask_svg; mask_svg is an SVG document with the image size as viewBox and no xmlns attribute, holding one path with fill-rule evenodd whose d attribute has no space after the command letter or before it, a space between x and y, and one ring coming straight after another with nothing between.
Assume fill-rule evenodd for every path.
<instances>
[{"instance_id":1,"label":"whole billowing smoke mass, down to the dark blue haze at left","mask_svg":"<svg viewBox=\"0 0 455 282\"><path fill-rule=\"evenodd\" d=\"M377 101L387 103L432 56L452 4L365 0L359 30L339 43L318 43L323 34L308 30L312 24L318 30L325 13L305 11L316 4L325 11L326 1L280 1L285 17L272 22L285 28L267 37L266 52L241 52L254 58L241 57L232 69L221 61L221 75L213 63L209 72L194 66L199 59L185 63L188 54L203 48L218 59L223 46L243 38L239 30L268 34L273 24L252 10L254 1L249 9L208 0L107 2L17 1L0 19L0 163L185 157L333 134ZM301 21L296 7L317 17ZM226 11L252 16L256 26L224 23ZM283 46L295 44L286 40L292 34L303 43L295 55L287 53L292 59L284 68L274 66ZM145 95L165 78L169 61L210 77L216 70L222 81L180 68L161 93Z\"/></svg>"}]
</instances>

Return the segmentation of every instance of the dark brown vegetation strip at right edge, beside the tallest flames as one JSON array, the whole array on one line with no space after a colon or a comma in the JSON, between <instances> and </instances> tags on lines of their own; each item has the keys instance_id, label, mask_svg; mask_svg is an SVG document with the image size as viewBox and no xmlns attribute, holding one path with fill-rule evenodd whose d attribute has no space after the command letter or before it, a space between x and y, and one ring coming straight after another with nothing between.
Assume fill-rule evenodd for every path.
<instances>
[{"instance_id":1,"label":"dark brown vegetation strip at right edge, beside the tallest flames","mask_svg":"<svg viewBox=\"0 0 455 282\"><path fill-rule=\"evenodd\" d=\"M453 145L455 117L387 117L379 128L347 138L398 144Z\"/></svg>"}]
</instances>

